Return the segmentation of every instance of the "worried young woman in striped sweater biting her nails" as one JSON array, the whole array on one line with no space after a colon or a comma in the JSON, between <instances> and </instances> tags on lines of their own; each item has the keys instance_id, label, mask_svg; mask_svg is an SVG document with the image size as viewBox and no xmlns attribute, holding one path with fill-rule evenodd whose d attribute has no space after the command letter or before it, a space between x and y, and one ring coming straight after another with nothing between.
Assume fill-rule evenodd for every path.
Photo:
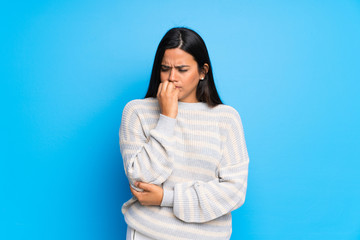
<instances>
[{"instance_id":1,"label":"worried young woman in striped sweater biting her nails","mask_svg":"<svg viewBox=\"0 0 360 240\"><path fill-rule=\"evenodd\" d=\"M165 34L148 92L126 104L119 137L134 196L122 207L127 239L230 239L249 158L240 116L221 102L196 32Z\"/></svg>"}]
</instances>

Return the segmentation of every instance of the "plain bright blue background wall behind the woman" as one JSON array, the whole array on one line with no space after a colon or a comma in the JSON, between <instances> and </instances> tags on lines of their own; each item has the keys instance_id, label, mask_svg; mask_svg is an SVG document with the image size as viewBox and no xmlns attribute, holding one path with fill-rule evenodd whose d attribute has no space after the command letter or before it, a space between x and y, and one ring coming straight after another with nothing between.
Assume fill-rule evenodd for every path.
<instances>
[{"instance_id":1,"label":"plain bright blue background wall behind the woman","mask_svg":"<svg viewBox=\"0 0 360 240\"><path fill-rule=\"evenodd\" d=\"M0 239L124 239L118 145L174 26L250 156L232 239L360 239L360 1L3 1Z\"/></svg>"}]
</instances>

